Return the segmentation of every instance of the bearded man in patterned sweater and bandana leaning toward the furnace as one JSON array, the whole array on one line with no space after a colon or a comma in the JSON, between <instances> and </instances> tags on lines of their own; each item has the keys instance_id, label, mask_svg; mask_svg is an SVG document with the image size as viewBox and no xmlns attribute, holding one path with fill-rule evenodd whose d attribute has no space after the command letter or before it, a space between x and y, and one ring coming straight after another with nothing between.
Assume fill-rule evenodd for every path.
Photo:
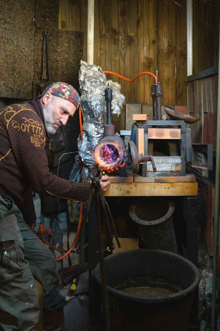
<instances>
[{"instance_id":1,"label":"bearded man in patterned sweater and bandana leaning toward the furnace","mask_svg":"<svg viewBox=\"0 0 220 331\"><path fill-rule=\"evenodd\" d=\"M44 145L79 107L73 86L57 82L35 100L0 111L0 330L33 331L39 319L36 278L44 289L43 330L63 330L64 298L55 257L19 216L23 194L85 203L90 183L74 183L48 170ZM108 176L101 178L105 192ZM34 228L34 224L32 226Z\"/></svg>"}]
</instances>

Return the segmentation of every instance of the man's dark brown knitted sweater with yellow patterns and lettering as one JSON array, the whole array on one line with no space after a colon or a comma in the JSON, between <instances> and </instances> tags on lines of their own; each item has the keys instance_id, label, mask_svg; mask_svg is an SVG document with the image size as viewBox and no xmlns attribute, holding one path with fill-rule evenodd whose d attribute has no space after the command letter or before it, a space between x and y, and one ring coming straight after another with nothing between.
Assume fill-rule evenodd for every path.
<instances>
[{"instance_id":1,"label":"man's dark brown knitted sweater with yellow patterns and lettering","mask_svg":"<svg viewBox=\"0 0 220 331\"><path fill-rule=\"evenodd\" d=\"M39 194L85 202L90 183L58 178L48 170L44 145L49 138L39 100L0 110L0 195L22 204L32 186Z\"/></svg>"}]
</instances>

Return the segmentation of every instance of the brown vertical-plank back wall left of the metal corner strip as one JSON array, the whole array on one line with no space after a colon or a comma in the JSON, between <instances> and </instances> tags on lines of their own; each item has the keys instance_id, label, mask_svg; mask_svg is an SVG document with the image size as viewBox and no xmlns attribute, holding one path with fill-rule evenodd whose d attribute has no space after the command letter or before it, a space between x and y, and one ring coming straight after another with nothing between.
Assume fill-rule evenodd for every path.
<instances>
[{"instance_id":1,"label":"brown vertical-plank back wall left of the metal corner strip","mask_svg":"<svg viewBox=\"0 0 220 331\"><path fill-rule=\"evenodd\" d=\"M186 105L186 10L173 0L95 0L94 64L129 79L158 73L163 105ZM61 0L59 27L83 30L86 61L86 0ZM141 75L129 83L118 77L126 103L152 104L154 79ZM125 117L121 114L121 129Z\"/></svg>"}]
</instances>

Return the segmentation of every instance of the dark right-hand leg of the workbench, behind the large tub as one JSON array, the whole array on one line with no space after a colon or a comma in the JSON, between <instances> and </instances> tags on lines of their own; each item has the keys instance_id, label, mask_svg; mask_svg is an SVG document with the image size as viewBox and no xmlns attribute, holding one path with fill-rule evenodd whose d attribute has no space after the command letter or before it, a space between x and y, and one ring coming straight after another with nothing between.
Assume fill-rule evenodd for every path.
<instances>
[{"instance_id":1,"label":"dark right-hand leg of the workbench, behind the large tub","mask_svg":"<svg viewBox=\"0 0 220 331\"><path fill-rule=\"evenodd\" d=\"M198 267L198 203L197 197L184 197L184 215L186 220L186 258ZM199 289L194 292L190 320L198 317Z\"/></svg>"}]
</instances>

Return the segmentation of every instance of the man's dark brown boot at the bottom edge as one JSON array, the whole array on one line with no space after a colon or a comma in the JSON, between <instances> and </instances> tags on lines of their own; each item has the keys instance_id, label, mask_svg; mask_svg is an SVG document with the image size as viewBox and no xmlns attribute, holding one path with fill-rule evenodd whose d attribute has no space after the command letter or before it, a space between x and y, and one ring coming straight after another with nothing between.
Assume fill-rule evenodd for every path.
<instances>
[{"instance_id":1,"label":"man's dark brown boot at the bottom edge","mask_svg":"<svg viewBox=\"0 0 220 331\"><path fill-rule=\"evenodd\" d=\"M64 328L63 308L48 308L44 310L44 324L42 331L66 331Z\"/></svg>"}]
</instances>

